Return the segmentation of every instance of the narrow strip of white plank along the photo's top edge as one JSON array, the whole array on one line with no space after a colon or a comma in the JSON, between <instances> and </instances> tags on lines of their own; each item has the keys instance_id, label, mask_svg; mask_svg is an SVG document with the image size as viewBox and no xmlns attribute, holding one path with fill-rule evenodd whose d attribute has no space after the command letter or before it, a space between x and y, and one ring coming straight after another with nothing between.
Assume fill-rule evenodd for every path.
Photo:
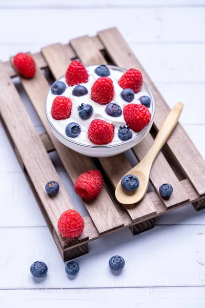
<instances>
[{"instance_id":1,"label":"narrow strip of white plank along the photo's top edge","mask_svg":"<svg viewBox=\"0 0 205 308\"><path fill-rule=\"evenodd\" d=\"M15 0L8 0L6 3L2 3L2 7L48 7L52 8L64 6L64 8L72 8L72 7L127 7L127 6L139 6L139 7L169 7L169 6L198 6L198 5L204 5L204 0L155 0L153 3L153 0L144 0L141 2L141 0L127 0L126 2L124 0L104 0L103 3L99 2L98 0L87 0L86 2L84 0L76 0L75 2L71 2L68 0L59 0L57 3L55 0L20 0L17 3Z\"/></svg>"}]
</instances>

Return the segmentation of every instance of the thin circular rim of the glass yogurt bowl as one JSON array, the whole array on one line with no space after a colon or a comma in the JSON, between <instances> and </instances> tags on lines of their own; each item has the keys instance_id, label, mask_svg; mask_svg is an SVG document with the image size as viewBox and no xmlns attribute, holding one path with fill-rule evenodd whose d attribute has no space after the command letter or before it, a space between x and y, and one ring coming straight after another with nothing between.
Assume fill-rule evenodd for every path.
<instances>
[{"instance_id":1,"label":"thin circular rim of the glass yogurt bowl","mask_svg":"<svg viewBox=\"0 0 205 308\"><path fill-rule=\"evenodd\" d=\"M100 64L98 64L100 65ZM93 65L87 65L85 66L86 68L87 67L92 67L92 66L97 66L97 64L93 64ZM108 68L111 68L111 69L115 69L115 70L119 70L123 73L125 73L127 71L127 69L125 68L121 68L121 67L118 67L116 65L106 65ZM63 76L61 76L59 79L61 78L64 78L65 74ZM59 79L57 79L56 81L58 81ZM55 81L55 82L56 82ZM151 97L151 104L152 104L152 113L151 113L151 120L150 120L150 123L144 128L142 129L136 136L134 136L133 138L127 140L127 141L124 141L124 142L121 142L121 143L117 143L117 144L105 144L105 145L90 145L90 144L83 144L83 143L80 143L80 142L77 142L75 140L70 140L69 137L66 137L64 136L61 132L59 132L55 126L52 124L52 122L50 121L49 119L49 115L48 115L48 112L47 112L47 98L48 98L48 94L50 93L50 89L46 95L46 102L45 102L45 112L46 112L46 117L47 117L47 120L50 124L50 126L55 130L55 132L57 134L59 134L59 136L61 136L62 138L64 138L66 141L68 142L71 142L71 143L74 143L76 145L79 145L79 146L83 146L83 147L88 147L88 148L93 148L93 149L104 149L104 148L112 148L112 147L117 147L117 146L122 146L124 144L127 144L127 143L130 143L131 141L133 142L134 140L137 140L137 139L140 139L141 136L143 136L143 134L149 129L150 126L152 126L153 124L153 120L154 120L154 115L155 115L155 109L156 109L156 105L155 105L155 100L154 100L154 97L153 97L153 94L152 94L152 91L150 90L150 88L148 87L148 85L143 81L143 85L146 87L148 93L150 94L150 97Z\"/></svg>"}]
</instances>

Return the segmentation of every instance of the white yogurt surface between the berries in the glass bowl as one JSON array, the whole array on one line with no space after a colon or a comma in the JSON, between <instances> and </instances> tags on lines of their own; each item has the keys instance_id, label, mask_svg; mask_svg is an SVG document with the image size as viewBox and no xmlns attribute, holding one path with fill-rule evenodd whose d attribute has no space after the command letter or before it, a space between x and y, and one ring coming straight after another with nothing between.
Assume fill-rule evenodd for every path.
<instances>
[{"instance_id":1,"label":"white yogurt surface between the berries in the glass bowl","mask_svg":"<svg viewBox=\"0 0 205 308\"><path fill-rule=\"evenodd\" d=\"M109 145L115 145L115 144L120 144L123 143L123 141L121 141L118 137L118 129L119 126L123 126L126 125L124 116L123 116L123 112L120 115L120 117L111 117L110 115L108 115L105 112L105 108L106 105L100 105L94 101L91 100L91 87L93 85L93 83L99 78L99 76L94 72L96 66L90 66L87 68L88 71L88 75L89 75L89 79L87 83L82 84L83 86L85 86L88 89L88 94L83 95L81 97L76 97L74 95L72 95L72 91L74 89L75 86L73 87L69 87L67 86L66 90L64 91L64 93L62 93L62 96L65 96L69 99L71 99L72 101L72 111L71 111L71 116L68 119L65 120L55 120L52 118L51 115L51 107L52 107L52 103L53 100L56 96L58 95L54 95L51 93L51 89L49 90L48 96L47 96L47 101L46 101L46 111L47 111L47 116L50 120L50 122L52 123L53 127L61 134L63 135L66 139L68 140L72 140L72 141L76 141L78 143L81 144L85 144L85 145L94 145L90 139L88 138L87 132L88 132L88 127L90 125L90 123L94 120L94 119L101 119L101 120L105 120L111 124L113 124L114 126L114 138L112 140L111 143L109 143ZM114 99L112 100L111 103L116 103L118 104L122 111L125 105L130 104L126 101L124 101L124 99L122 99L120 93L123 90L119 85L118 85L118 80L120 79L120 77L124 74L121 71L112 69L110 69L110 75L109 78L112 79L113 81L113 85L114 85L114 89L115 89L115 96ZM63 81L66 84L66 79L65 76L60 78L59 81ZM66 84L67 85L67 84ZM146 87L144 85L142 85L141 91L135 94L135 98L134 100L131 102L132 104L140 104L140 101L138 100L142 95L147 95L150 97L149 92L147 91ZM93 107L93 114L90 117L90 119L87 120L82 120L80 119L79 115L78 115L78 110L77 107L80 106L82 103L84 104L89 104ZM81 127L81 132L80 134L76 137L76 138L70 138L66 135L66 126L71 123L71 122L76 122L80 125ZM138 133L135 131L133 132L133 137L135 137ZM133 138L132 137L132 138ZM95 144L96 145L96 144ZM97 145L96 145L97 146ZM102 145L99 145L102 146Z\"/></svg>"}]
</instances>

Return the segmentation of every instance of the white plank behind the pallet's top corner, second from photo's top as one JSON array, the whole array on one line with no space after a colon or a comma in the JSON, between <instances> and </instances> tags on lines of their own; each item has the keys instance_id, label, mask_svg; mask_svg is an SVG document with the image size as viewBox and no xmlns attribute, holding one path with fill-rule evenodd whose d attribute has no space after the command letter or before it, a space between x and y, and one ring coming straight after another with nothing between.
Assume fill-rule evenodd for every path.
<instances>
[{"instance_id":1,"label":"white plank behind the pallet's top corner, second from photo's top","mask_svg":"<svg viewBox=\"0 0 205 308\"><path fill-rule=\"evenodd\" d=\"M92 13L91 18L88 17L89 13ZM16 16L18 19L13 27L11 21L16 21ZM114 11L103 8L93 9L91 12L84 9L67 11L57 8L17 11L2 9L0 28L4 31L1 33L1 43L31 44L34 40L42 45L66 43L69 38L85 34L95 35L98 30L113 26L118 27L128 43L204 42L204 16L205 7L116 8ZM80 20L77 26L76 20Z\"/></svg>"}]
</instances>

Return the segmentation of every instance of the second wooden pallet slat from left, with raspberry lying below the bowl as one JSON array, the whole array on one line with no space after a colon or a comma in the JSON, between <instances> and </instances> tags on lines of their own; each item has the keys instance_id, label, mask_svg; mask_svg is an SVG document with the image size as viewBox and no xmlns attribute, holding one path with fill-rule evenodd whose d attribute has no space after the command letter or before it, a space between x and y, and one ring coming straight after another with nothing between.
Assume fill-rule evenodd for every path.
<instances>
[{"instance_id":1,"label":"second wooden pallet slat from left, with raspberry lying below the bowl","mask_svg":"<svg viewBox=\"0 0 205 308\"><path fill-rule=\"evenodd\" d=\"M60 52L60 50L58 51ZM57 62L54 63L54 65L57 66L59 72L60 59L65 58L64 55L60 53L58 53L58 57L59 59ZM64 61L63 64L65 65ZM64 72L65 68L60 75L62 75ZM35 76L32 80L21 78L21 82L33 106L35 107L40 120L45 126L45 129L48 132L48 135L56 151L58 152L58 155L63 162L66 171L68 172L72 181L75 182L76 178L81 173L92 169L93 166L88 157L82 156L60 143L51 132L45 114L45 101L47 93L50 89L50 86L45 76L42 74L40 69L37 68ZM99 234L103 234L105 232L108 232L109 230L124 225L105 187L103 187L103 189L101 190L98 198L93 199L89 204L85 201L84 204Z\"/></svg>"}]
</instances>

